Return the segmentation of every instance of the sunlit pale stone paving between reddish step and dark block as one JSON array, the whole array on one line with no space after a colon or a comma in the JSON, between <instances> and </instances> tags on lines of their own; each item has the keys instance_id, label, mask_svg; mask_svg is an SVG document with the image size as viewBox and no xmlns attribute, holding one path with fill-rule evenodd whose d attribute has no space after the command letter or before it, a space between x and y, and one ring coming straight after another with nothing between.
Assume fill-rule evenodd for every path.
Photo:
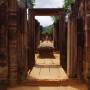
<instances>
[{"instance_id":1,"label":"sunlit pale stone paving between reddish step and dark block","mask_svg":"<svg viewBox=\"0 0 90 90\"><path fill-rule=\"evenodd\" d=\"M54 58L38 58L36 54L36 65L33 70L28 74L28 79L37 80L66 80L68 79L67 74L60 66L59 54L54 54Z\"/></svg>"}]
</instances>

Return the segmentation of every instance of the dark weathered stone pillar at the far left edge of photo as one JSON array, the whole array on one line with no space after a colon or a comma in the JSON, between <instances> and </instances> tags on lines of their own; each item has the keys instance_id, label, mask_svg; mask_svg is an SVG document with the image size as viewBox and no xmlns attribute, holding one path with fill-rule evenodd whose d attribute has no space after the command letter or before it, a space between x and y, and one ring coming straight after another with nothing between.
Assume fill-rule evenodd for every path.
<instances>
[{"instance_id":1,"label":"dark weathered stone pillar at the far left edge of photo","mask_svg":"<svg viewBox=\"0 0 90 90\"><path fill-rule=\"evenodd\" d=\"M0 5L0 89L6 90L8 83L8 29L7 3Z\"/></svg>"}]
</instances>

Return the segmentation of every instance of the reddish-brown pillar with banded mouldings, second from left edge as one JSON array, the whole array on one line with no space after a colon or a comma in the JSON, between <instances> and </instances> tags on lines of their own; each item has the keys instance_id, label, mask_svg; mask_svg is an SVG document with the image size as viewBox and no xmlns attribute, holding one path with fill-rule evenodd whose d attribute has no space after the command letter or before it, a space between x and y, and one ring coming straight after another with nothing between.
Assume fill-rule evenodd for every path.
<instances>
[{"instance_id":1,"label":"reddish-brown pillar with banded mouldings, second from left edge","mask_svg":"<svg viewBox=\"0 0 90 90\"><path fill-rule=\"evenodd\" d=\"M17 83L17 0L8 0L9 83Z\"/></svg>"}]
</instances>

